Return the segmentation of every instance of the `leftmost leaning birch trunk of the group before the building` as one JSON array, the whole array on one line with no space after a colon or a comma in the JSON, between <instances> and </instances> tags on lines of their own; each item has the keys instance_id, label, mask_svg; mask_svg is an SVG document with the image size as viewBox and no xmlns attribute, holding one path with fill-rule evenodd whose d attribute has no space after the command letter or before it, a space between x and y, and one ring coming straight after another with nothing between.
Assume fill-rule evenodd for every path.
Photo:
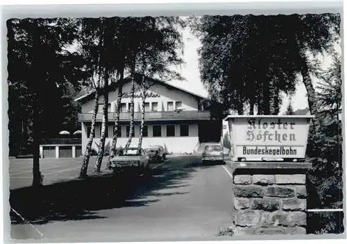
<instances>
[{"instance_id":1,"label":"leftmost leaning birch trunk of the group before the building","mask_svg":"<svg viewBox=\"0 0 347 244\"><path fill-rule=\"evenodd\" d=\"M81 167L81 172L80 172L80 177L84 178L87 177L87 168L89 164L89 159L90 159L90 150L92 149L92 144L93 144L93 139L95 135L95 122L96 122L96 114L98 112L98 107L99 107L99 91L95 91L95 97L94 97L94 109L93 109L93 116L92 116L92 125L90 128L90 135L89 135L89 140L87 143L87 147L85 148L85 155L83 158L83 164Z\"/></svg>"}]
</instances>

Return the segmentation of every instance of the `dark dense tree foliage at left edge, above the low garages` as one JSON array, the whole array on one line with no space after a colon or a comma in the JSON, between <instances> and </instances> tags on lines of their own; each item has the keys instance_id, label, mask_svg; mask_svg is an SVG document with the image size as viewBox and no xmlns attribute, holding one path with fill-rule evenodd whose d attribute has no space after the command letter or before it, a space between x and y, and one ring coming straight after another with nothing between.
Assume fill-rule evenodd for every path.
<instances>
[{"instance_id":1,"label":"dark dense tree foliage at left edge, above the low garages","mask_svg":"<svg viewBox=\"0 0 347 244\"><path fill-rule=\"evenodd\" d=\"M76 37L73 19L9 19L7 27L10 154L17 155L19 144L28 148L22 153L31 153L34 100L42 137L76 129L76 123L68 121L71 100L65 98L67 89L78 89L83 72L79 55L66 49ZM67 88L68 83L72 87Z\"/></svg>"}]
</instances>

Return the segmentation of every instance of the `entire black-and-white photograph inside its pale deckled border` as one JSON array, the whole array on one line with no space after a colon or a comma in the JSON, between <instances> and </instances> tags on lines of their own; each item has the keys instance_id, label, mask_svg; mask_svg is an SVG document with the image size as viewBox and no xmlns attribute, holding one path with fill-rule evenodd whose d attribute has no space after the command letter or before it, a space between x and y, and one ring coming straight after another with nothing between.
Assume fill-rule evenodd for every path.
<instances>
[{"instance_id":1,"label":"entire black-and-white photograph inside its pale deckled border","mask_svg":"<svg viewBox=\"0 0 347 244\"><path fill-rule=\"evenodd\" d=\"M342 13L224 13L3 21L12 243L344 236Z\"/></svg>"}]
</instances>

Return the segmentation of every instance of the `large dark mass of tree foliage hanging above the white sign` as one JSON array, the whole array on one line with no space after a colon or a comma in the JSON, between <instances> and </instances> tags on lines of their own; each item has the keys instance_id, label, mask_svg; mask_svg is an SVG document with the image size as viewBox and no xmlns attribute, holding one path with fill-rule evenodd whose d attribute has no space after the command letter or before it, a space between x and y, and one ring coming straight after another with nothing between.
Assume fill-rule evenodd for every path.
<instances>
[{"instance_id":1,"label":"large dark mass of tree foliage hanging above the white sign","mask_svg":"<svg viewBox=\"0 0 347 244\"><path fill-rule=\"evenodd\" d=\"M201 80L226 110L243 114L248 105L253 114L256 105L258 114L276 114L280 92L292 94L303 65L312 67L299 54L330 51L339 37L339 21L339 15L328 13L192 18L202 43Z\"/></svg>"}]
</instances>

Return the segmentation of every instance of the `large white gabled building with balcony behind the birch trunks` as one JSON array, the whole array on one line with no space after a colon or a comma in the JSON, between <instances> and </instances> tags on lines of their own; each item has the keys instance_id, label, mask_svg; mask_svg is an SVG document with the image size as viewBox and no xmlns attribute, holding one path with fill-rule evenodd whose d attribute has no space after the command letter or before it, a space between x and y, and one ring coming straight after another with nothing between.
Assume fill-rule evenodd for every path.
<instances>
[{"instance_id":1,"label":"large white gabled building with balcony behind the birch trunks","mask_svg":"<svg viewBox=\"0 0 347 244\"><path fill-rule=\"evenodd\" d=\"M110 85L106 143L112 141L113 137L119 84L123 85L124 96L121 98L117 147L124 147L130 130L130 78ZM131 146L137 146L139 141L139 125L142 117L142 90L139 83L135 84L135 131ZM146 84L150 87L147 90L144 105L143 148L161 145L167 148L169 153L194 153L201 142L221 141L222 121L211 115L206 98L159 80L147 78ZM82 151L84 152L90 134L94 93L77 98L76 101L80 102L82 107L78 120L82 124ZM102 107L103 96L100 96L94 137L94 141L98 144L101 135ZM93 143L95 149L96 143Z\"/></svg>"}]
</instances>

